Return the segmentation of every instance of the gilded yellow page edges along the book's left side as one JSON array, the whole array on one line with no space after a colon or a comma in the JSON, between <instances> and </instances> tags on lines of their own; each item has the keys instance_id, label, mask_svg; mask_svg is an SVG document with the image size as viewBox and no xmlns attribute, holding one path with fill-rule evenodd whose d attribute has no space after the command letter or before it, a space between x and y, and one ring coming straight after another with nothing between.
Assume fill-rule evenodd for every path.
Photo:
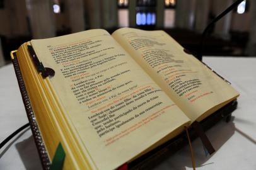
<instances>
[{"instance_id":1,"label":"gilded yellow page edges along the book's left side","mask_svg":"<svg viewBox=\"0 0 256 170\"><path fill-rule=\"evenodd\" d=\"M21 45L16 54L23 75L23 81L25 81L26 91L28 92L42 139L47 147L47 154L52 160L56 147L59 142L61 142L66 152L64 169L84 169L82 167L86 167L86 160L84 160L81 155L77 155L77 152L71 150L71 147L67 144L70 143L70 141L68 141L70 139L65 138L65 134L61 130L59 122L55 123L58 120L57 115L50 114L55 113L55 108L51 106L53 105L51 101L45 100L49 95L47 94L49 91L44 90L45 79L42 79L40 75L38 76L38 72L26 50L26 45L28 45L28 43ZM78 160L78 158L80 160ZM82 163L79 164L79 161Z\"/></svg>"}]
</instances>

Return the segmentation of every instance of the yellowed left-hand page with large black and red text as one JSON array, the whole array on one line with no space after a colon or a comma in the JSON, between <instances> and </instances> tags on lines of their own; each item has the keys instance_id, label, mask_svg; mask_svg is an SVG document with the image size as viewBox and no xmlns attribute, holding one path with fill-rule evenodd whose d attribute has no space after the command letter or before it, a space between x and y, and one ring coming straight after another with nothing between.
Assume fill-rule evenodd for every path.
<instances>
[{"instance_id":1,"label":"yellowed left-hand page with large black and red text","mask_svg":"<svg viewBox=\"0 0 256 170\"><path fill-rule=\"evenodd\" d=\"M189 125L107 31L32 40L32 45L44 66L55 70L48 85L98 169L114 169Z\"/></svg>"}]
</instances>

